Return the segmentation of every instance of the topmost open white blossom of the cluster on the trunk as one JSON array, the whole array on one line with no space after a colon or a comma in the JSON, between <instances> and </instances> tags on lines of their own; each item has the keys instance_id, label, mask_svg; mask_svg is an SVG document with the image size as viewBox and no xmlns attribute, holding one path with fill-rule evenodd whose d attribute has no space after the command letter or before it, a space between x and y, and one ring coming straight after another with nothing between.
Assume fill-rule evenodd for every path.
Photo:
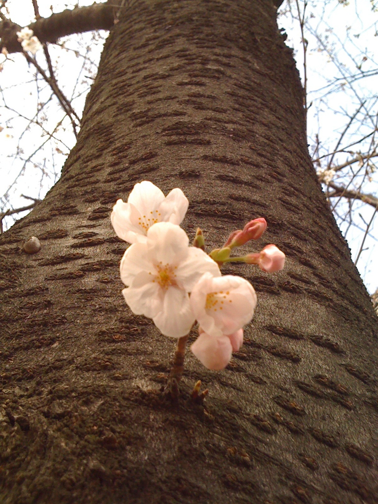
<instances>
[{"instance_id":1,"label":"topmost open white blossom of the cluster on the trunk","mask_svg":"<svg viewBox=\"0 0 378 504\"><path fill-rule=\"evenodd\" d=\"M178 187L165 197L159 187L144 180L135 184L127 203L117 200L110 219L119 238L129 243L145 243L152 225L158 222L180 224L188 205Z\"/></svg>"}]
</instances>

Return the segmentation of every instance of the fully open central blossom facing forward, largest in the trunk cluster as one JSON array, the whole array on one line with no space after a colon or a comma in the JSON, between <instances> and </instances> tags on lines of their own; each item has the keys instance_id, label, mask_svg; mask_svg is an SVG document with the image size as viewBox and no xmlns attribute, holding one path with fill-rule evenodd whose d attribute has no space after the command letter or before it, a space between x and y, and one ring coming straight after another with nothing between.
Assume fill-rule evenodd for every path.
<instances>
[{"instance_id":1,"label":"fully open central blossom facing forward, largest in the trunk cluster","mask_svg":"<svg viewBox=\"0 0 378 504\"><path fill-rule=\"evenodd\" d=\"M132 311L172 338L188 334L195 322L188 293L196 282L205 272L221 275L203 250L188 244L183 229L160 222L147 230L145 242L125 251L120 264L121 280L129 286L122 294Z\"/></svg>"}]
</instances>

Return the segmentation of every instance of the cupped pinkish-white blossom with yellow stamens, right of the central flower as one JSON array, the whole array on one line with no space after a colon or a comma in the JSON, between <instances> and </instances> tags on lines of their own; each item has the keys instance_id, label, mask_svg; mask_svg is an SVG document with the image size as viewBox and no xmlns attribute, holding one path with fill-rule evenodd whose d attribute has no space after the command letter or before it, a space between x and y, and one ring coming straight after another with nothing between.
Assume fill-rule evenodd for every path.
<instances>
[{"instance_id":1,"label":"cupped pinkish-white blossom with yellow stamens, right of the central flower","mask_svg":"<svg viewBox=\"0 0 378 504\"><path fill-rule=\"evenodd\" d=\"M221 337L241 329L254 316L257 296L244 278L206 272L192 290L193 313L205 333Z\"/></svg>"}]
</instances>

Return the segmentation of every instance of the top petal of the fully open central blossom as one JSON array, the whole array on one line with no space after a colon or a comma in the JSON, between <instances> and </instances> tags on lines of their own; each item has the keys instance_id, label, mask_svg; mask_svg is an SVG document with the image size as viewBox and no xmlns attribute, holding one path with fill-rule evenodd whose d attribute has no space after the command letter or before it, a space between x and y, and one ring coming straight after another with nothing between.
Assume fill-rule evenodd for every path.
<instances>
[{"instance_id":1,"label":"top petal of the fully open central blossom","mask_svg":"<svg viewBox=\"0 0 378 504\"><path fill-rule=\"evenodd\" d=\"M187 256L188 244L185 231L170 222L159 222L147 231L148 257L154 264L178 265Z\"/></svg>"}]
</instances>

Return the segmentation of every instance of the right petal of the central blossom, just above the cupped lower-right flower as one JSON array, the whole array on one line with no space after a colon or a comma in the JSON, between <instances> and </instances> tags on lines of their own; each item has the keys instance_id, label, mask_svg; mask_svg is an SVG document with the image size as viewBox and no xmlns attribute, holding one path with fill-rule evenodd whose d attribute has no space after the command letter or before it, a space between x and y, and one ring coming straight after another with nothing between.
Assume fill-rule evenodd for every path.
<instances>
[{"instance_id":1,"label":"right petal of the central blossom, just above the cupped lower-right flower","mask_svg":"<svg viewBox=\"0 0 378 504\"><path fill-rule=\"evenodd\" d=\"M201 248L188 248L185 260L181 261L176 270L178 281L187 292L191 292L204 273L221 276L217 263Z\"/></svg>"}]
</instances>

